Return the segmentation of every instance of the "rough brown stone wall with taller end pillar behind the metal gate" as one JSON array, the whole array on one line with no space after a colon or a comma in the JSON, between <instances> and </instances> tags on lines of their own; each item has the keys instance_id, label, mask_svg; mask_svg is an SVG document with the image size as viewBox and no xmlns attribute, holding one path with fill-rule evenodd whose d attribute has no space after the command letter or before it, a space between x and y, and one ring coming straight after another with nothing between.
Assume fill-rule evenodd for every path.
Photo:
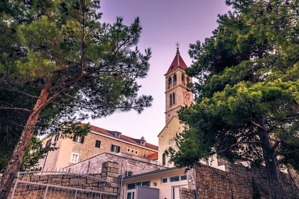
<instances>
[{"instance_id":1,"label":"rough brown stone wall with taller end pillar behind the metal gate","mask_svg":"<svg viewBox=\"0 0 299 199\"><path fill-rule=\"evenodd\" d=\"M20 174L20 176L13 181L8 198L10 198L12 194L16 180L18 180L31 182L34 184L18 183L13 195L14 199L23 199L24 196L26 196L26 198L36 198L36 196L37 198L43 198L47 185L50 186L46 194L46 199L74 198L74 190L51 187L51 185L82 189L81 191L76 192L77 199L94 199L95 197L99 198L98 194L92 194L89 192L89 190L106 193L102 194L101 199L117 199L117 196L110 194L118 194L121 191L117 186L119 184L120 164L109 161L103 163L102 168L103 169L100 174L88 176L76 173L51 172Z\"/></svg>"}]
</instances>

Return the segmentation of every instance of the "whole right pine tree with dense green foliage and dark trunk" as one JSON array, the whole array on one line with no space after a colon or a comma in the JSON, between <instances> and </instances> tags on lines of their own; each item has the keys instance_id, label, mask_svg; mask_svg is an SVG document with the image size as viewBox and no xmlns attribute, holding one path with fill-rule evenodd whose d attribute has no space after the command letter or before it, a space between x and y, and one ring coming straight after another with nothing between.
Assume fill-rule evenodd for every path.
<instances>
[{"instance_id":1,"label":"whole right pine tree with dense green foliage and dark trunk","mask_svg":"<svg viewBox=\"0 0 299 199\"><path fill-rule=\"evenodd\" d=\"M177 166L214 154L265 164L272 197L285 199L279 165L299 152L298 1L227 3L213 36L190 45L196 102L179 111L187 128L168 152Z\"/></svg>"}]
</instances>

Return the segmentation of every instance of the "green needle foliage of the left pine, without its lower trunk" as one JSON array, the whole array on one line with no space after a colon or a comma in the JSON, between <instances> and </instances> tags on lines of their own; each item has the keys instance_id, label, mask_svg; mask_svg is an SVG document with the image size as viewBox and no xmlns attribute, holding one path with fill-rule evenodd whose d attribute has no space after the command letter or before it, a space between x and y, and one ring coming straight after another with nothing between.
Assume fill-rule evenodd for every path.
<instances>
[{"instance_id":1,"label":"green needle foliage of the left pine, without its lower trunk","mask_svg":"<svg viewBox=\"0 0 299 199\"><path fill-rule=\"evenodd\" d=\"M0 2L1 170L43 90L49 96L35 136L85 135L88 125L77 125L84 119L151 105L151 96L138 96L137 79L147 76L151 57L137 47L140 19L102 23L99 8L99 0ZM42 156L38 144L31 139L24 168Z\"/></svg>"}]
</instances>

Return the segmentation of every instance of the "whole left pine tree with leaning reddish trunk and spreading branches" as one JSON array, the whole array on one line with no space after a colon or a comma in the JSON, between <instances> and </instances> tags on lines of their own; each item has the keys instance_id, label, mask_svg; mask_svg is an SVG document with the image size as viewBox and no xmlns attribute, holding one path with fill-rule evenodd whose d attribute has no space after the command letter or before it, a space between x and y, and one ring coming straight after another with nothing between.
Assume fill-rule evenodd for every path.
<instances>
[{"instance_id":1,"label":"whole left pine tree with leaning reddish trunk and spreading branches","mask_svg":"<svg viewBox=\"0 0 299 199\"><path fill-rule=\"evenodd\" d=\"M1 109L28 114L1 178L0 198L6 198L36 124L44 119L40 116L45 108L69 111L73 113L70 119L79 116L82 120L131 109L141 112L151 105L151 96L137 95L140 86L136 80L147 76L151 56L150 49L142 54L137 48L142 31L139 18L129 26L122 17L117 17L114 24L101 23L99 3L1 1L1 90L35 102L33 107L0 102ZM23 90L23 85L33 89ZM69 117L65 115L64 119ZM65 132L75 128L70 126L71 121L63 125Z\"/></svg>"}]
</instances>

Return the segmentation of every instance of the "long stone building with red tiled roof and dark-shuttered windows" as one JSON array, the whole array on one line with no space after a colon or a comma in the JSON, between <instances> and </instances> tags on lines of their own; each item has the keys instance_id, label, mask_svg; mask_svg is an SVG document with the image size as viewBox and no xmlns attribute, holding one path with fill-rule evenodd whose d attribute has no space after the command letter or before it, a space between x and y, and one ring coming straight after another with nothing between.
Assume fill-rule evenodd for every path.
<instances>
[{"instance_id":1,"label":"long stone building with red tiled roof and dark-shuttered windows","mask_svg":"<svg viewBox=\"0 0 299 199\"><path fill-rule=\"evenodd\" d=\"M91 131L84 137L60 139L59 136L49 135L43 139L41 147L49 144L58 149L49 151L46 157L39 161L42 170L48 171L60 170L102 153L122 153L147 158L158 152L158 147L147 143L144 137L135 139L92 125Z\"/></svg>"}]
</instances>

